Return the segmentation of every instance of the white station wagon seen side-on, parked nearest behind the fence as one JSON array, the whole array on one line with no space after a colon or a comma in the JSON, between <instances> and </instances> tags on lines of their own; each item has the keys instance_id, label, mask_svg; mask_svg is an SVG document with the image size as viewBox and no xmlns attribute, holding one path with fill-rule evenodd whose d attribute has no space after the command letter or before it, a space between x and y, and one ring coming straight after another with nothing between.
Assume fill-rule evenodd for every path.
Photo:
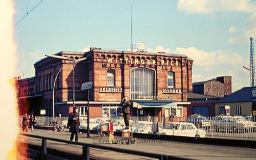
<instances>
[{"instance_id":1,"label":"white station wagon seen side-on, parked nearest behind the fence","mask_svg":"<svg viewBox=\"0 0 256 160\"><path fill-rule=\"evenodd\" d=\"M163 128L158 128L162 135L185 136L185 137L205 137L205 130L198 129L193 123L188 122L168 122Z\"/></svg>"}]
</instances>

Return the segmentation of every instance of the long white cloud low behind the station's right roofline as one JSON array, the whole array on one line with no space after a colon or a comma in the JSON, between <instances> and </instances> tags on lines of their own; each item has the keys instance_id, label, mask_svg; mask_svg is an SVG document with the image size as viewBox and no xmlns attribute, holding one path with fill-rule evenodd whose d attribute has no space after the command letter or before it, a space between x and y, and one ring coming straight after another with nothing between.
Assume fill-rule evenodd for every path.
<instances>
[{"instance_id":1,"label":"long white cloud low behind the station's right roofline","mask_svg":"<svg viewBox=\"0 0 256 160\"><path fill-rule=\"evenodd\" d=\"M217 76L232 77L232 92L243 87L249 86L250 75L244 71L242 65L248 64L237 52L230 50L204 51L196 47L181 48L175 50L157 46L155 49L150 48L148 52L165 51L166 54L186 55L194 60L193 63L193 83L208 81ZM248 79L248 82L245 81Z\"/></svg>"}]
</instances>

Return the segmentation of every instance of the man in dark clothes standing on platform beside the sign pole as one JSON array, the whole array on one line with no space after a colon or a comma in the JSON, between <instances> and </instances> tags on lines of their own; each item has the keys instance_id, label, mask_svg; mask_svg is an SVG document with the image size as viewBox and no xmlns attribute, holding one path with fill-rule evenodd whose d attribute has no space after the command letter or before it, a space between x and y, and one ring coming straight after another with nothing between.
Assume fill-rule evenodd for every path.
<instances>
[{"instance_id":1,"label":"man in dark clothes standing on platform beside the sign pole","mask_svg":"<svg viewBox=\"0 0 256 160\"><path fill-rule=\"evenodd\" d=\"M71 122L70 123L70 131L71 131L70 141L73 141L74 134L75 134L76 135L75 141L78 142L80 119L79 119L79 113L78 113L77 107L74 107L73 112L69 114L69 121Z\"/></svg>"}]
</instances>

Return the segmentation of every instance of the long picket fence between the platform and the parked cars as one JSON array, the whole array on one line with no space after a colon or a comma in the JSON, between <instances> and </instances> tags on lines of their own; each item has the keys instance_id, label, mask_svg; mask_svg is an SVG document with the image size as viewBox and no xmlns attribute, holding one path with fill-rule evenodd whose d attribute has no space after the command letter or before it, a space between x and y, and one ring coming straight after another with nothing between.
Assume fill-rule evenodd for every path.
<instances>
[{"instance_id":1,"label":"long picket fence between the platform and the parked cars","mask_svg":"<svg viewBox=\"0 0 256 160\"><path fill-rule=\"evenodd\" d=\"M20 124L22 124L20 117ZM49 126L56 122L66 125L68 117L35 117L35 126ZM90 118L90 130L98 130L100 126L108 123L110 118ZM124 125L122 117L111 117L115 128L122 128ZM118 121L119 120L119 121ZM116 121L116 122L115 122ZM184 123L189 122L189 123ZM194 125L191 125L193 123ZM87 129L87 118L80 117L82 129ZM188 137L232 137L232 138L256 138L255 117L251 116L215 116L204 117L193 115L188 117L154 117L140 116L130 117L130 126L133 132L143 134L165 134ZM196 128L195 128L196 127ZM115 130L120 131L120 129Z\"/></svg>"}]
</instances>

